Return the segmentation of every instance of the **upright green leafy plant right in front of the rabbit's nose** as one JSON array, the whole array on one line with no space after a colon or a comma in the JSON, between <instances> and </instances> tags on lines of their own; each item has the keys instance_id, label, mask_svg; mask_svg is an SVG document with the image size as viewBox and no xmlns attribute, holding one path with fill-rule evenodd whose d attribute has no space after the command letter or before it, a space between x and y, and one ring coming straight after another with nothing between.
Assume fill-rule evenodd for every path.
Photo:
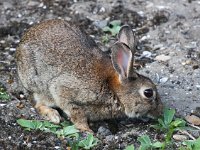
<instances>
[{"instance_id":1,"label":"upright green leafy plant right in front of the rabbit's nose","mask_svg":"<svg viewBox=\"0 0 200 150\"><path fill-rule=\"evenodd\" d=\"M175 110L174 109L164 109L163 118L158 119L158 124L153 125L152 127L166 133L165 142L162 146L162 150L166 148L168 144L170 144L172 135L175 131L183 129L186 125L186 122L183 119L175 118ZM174 121L173 121L174 119Z\"/></svg>"}]
</instances>

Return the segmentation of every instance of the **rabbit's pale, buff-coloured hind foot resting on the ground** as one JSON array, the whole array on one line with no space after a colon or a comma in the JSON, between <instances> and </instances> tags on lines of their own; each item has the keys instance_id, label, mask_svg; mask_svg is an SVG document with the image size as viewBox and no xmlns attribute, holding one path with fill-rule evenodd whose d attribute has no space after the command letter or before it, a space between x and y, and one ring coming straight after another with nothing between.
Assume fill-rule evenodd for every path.
<instances>
[{"instance_id":1,"label":"rabbit's pale, buff-coloured hind foot resting on the ground","mask_svg":"<svg viewBox=\"0 0 200 150\"><path fill-rule=\"evenodd\" d=\"M49 120L55 124L59 124L61 117L56 109L51 108L54 106L52 102L42 94L34 93L33 96L36 101L35 108L38 113L46 120Z\"/></svg>"}]
</instances>

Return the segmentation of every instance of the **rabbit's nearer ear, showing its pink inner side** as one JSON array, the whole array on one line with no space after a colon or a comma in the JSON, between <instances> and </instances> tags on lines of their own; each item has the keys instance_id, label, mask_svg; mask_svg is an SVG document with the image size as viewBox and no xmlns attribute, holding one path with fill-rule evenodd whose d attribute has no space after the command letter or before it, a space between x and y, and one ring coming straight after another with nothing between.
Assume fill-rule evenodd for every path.
<instances>
[{"instance_id":1,"label":"rabbit's nearer ear, showing its pink inner side","mask_svg":"<svg viewBox=\"0 0 200 150\"><path fill-rule=\"evenodd\" d=\"M137 77L137 73L133 69L133 54L128 46L123 43L116 42L111 48L111 59L113 66L121 79L129 77Z\"/></svg>"}]
</instances>

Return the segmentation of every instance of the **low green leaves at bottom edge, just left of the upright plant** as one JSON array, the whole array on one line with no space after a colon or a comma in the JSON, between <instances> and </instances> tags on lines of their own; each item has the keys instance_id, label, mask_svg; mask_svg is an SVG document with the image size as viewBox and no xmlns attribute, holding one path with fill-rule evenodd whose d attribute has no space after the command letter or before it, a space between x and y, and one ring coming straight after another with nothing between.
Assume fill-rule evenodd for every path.
<instances>
[{"instance_id":1,"label":"low green leaves at bottom edge, just left of the upright plant","mask_svg":"<svg viewBox=\"0 0 200 150\"><path fill-rule=\"evenodd\" d=\"M163 143L161 142L151 142L148 135L143 135L138 138L138 141L140 142L139 150L152 150L152 149L158 149L163 146Z\"/></svg>"}]
</instances>

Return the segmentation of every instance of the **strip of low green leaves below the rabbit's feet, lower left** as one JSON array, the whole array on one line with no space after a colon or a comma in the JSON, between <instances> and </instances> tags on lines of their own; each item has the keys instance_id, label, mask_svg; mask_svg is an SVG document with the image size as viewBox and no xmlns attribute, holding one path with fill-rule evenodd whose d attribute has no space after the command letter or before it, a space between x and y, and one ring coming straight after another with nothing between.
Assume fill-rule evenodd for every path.
<instances>
[{"instance_id":1,"label":"strip of low green leaves below the rabbit's feet, lower left","mask_svg":"<svg viewBox=\"0 0 200 150\"><path fill-rule=\"evenodd\" d=\"M69 146L71 150L78 150L80 148L91 149L98 143L98 139L92 134L88 134L87 137L82 138L79 130L74 125L70 125L69 122L62 122L60 125L55 125L49 121L18 119L17 123L28 131L41 130L56 134L58 137L70 138Z\"/></svg>"}]
</instances>

